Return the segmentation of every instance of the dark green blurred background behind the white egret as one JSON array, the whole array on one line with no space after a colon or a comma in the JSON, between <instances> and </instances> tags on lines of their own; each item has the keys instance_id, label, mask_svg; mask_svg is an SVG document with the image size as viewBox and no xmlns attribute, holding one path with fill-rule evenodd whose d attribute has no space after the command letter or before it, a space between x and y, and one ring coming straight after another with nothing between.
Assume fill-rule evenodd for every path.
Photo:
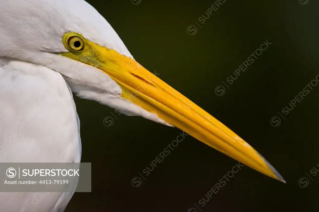
<instances>
[{"instance_id":1,"label":"dark green blurred background behind the white egret","mask_svg":"<svg viewBox=\"0 0 319 212\"><path fill-rule=\"evenodd\" d=\"M318 211L319 85L281 118L318 68L319 2L227 0L204 24L198 18L215 0L88 1L121 37L134 58L244 138L282 174L287 184L248 167L235 173L212 199L198 201L236 161L190 136L174 147L140 187L146 166L181 132L141 117L117 115L75 97L81 120L82 162L92 162L92 193L76 193L66 211L176 211L193 203L203 211ZM76 5L75 5L76 6ZM85 11L83 11L85 12ZM189 25L197 33L187 33ZM272 43L222 96L215 88L266 41ZM234 74L233 74L234 76ZM227 82L226 82L227 83ZM114 118L111 127L105 117ZM149 166L150 167L150 166ZM313 180L311 180L307 174ZM298 182L307 177L307 187ZM194 207L196 208L196 207ZM197 208L197 211L200 210Z\"/></svg>"}]
</instances>

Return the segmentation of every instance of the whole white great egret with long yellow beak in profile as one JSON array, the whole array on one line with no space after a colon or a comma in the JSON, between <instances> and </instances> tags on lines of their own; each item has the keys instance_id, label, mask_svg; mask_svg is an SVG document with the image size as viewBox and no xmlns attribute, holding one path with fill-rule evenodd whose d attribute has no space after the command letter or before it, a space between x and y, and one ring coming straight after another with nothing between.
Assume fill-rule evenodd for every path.
<instances>
[{"instance_id":1,"label":"whole white great egret with long yellow beak in profile","mask_svg":"<svg viewBox=\"0 0 319 212\"><path fill-rule=\"evenodd\" d=\"M1 162L80 162L71 92L130 116L176 126L284 182L243 139L137 63L84 0L1 0L0 141L19 135L2 149ZM50 193L33 209L63 211L72 194ZM37 195L2 193L1 211L22 211Z\"/></svg>"}]
</instances>

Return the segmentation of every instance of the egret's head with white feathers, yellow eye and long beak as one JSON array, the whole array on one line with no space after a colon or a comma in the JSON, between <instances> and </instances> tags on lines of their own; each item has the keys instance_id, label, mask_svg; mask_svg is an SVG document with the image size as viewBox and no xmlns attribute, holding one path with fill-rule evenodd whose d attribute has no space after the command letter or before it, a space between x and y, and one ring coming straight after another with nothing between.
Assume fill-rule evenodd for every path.
<instances>
[{"instance_id":1,"label":"egret's head with white feathers, yellow eye and long beak","mask_svg":"<svg viewBox=\"0 0 319 212\"><path fill-rule=\"evenodd\" d=\"M176 126L284 181L243 139L137 63L108 22L84 0L5 0L0 19L0 57L48 67L61 73L82 98Z\"/></svg>"}]
</instances>

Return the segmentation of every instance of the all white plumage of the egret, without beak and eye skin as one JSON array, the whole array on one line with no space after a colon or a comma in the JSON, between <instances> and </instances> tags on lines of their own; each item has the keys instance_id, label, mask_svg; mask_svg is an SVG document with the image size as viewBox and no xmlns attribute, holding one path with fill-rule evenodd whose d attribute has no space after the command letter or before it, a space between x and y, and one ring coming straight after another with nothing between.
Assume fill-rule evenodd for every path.
<instances>
[{"instance_id":1,"label":"all white plumage of the egret, without beak and eye skin","mask_svg":"<svg viewBox=\"0 0 319 212\"><path fill-rule=\"evenodd\" d=\"M108 22L83 0L1 0L0 146L18 135L3 146L1 162L80 162L79 123L69 86L80 97L113 108L125 102L123 112L165 124L122 99L122 89L107 74L55 54L67 52L61 40L66 32L79 32L132 58ZM60 212L72 196L49 193L34 207L39 195L0 193L0 210Z\"/></svg>"}]
</instances>

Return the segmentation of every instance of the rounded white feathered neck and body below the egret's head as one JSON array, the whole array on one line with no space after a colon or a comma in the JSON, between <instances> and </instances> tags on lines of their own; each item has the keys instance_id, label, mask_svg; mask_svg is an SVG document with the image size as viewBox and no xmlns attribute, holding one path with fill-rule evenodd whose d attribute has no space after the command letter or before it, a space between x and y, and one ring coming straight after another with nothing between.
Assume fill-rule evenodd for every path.
<instances>
[{"instance_id":1,"label":"rounded white feathered neck and body below the egret's head","mask_svg":"<svg viewBox=\"0 0 319 212\"><path fill-rule=\"evenodd\" d=\"M77 113L61 74L47 67L1 59L0 91L1 162L80 162ZM72 194L41 196L1 193L0 208L8 212L22 208L63 211ZM40 198L43 201L34 201Z\"/></svg>"}]
</instances>

